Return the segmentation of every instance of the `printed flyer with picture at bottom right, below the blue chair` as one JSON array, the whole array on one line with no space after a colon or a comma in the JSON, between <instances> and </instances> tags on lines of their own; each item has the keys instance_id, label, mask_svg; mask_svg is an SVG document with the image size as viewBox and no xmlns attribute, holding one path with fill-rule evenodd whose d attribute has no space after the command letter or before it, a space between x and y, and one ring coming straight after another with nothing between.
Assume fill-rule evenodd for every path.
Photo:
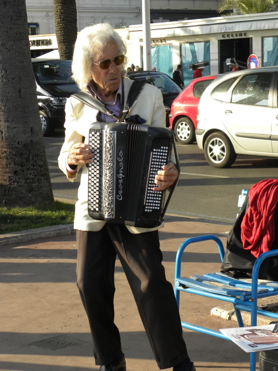
<instances>
[{"instance_id":1,"label":"printed flyer with picture at bottom right, below the blue chair","mask_svg":"<svg viewBox=\"0 0 278 371\"><path fill-rule=\"evenodd\" d=\"M246 352L278 348L278 324L220 329Z\"/></svg>"}]
</instances>

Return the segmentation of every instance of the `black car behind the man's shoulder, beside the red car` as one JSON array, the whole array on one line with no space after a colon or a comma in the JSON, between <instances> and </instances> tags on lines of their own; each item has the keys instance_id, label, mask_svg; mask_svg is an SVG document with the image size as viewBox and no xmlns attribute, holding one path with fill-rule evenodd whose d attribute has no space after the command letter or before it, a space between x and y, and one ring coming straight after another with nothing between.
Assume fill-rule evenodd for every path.
<instances>
[{"instance_id":1,"label":"black car behind the man's shoulder, beside the red car","mask_svg":"<svg viewBox=\"0 0 278 371\"><path fill-rule=\"evenodd\" d=\"M169 113L174 99L180 94L182 89L163 72L155 71L132 71L127 72L126 76L131 80L147 80L162 91L163 103L166 110L166 126L169 128Z\"/></svg>"}]
</instances>

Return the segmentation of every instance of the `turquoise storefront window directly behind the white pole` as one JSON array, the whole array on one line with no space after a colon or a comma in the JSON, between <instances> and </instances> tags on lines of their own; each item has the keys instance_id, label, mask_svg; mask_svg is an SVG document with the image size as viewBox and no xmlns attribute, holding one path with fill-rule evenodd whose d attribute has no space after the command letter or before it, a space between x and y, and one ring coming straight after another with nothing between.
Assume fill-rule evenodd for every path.
<instances>
[{"instance_id":1,"label":"turquoise storefront window directly behind the white pole","mask_svg":"<svg viewBox=\"0 0 278 371\"><path fill-rule=\"evenodd\" d=\"M142 66L144 69L143 47L142 47ZM157 71L164 72L171 78L173 77L172 45L152 46L152 66L156 67Z\"/></svg>"}]
</instances>

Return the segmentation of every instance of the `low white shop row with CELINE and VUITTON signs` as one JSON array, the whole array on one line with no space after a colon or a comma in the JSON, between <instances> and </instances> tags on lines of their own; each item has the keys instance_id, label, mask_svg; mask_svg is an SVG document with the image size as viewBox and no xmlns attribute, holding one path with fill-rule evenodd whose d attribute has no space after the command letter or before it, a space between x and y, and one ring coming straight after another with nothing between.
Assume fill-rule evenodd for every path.
<instances>
[{"instance_id":1,"label":"low white shop row with CELINE and VUITTON signs","mask_svg":"<svg viewBox=\"0 0 278 371\"><path fill-rule=\"evenodd\" d=\"M142 25L116 31L127 44L128 65L144 68ZM55 34L29 39L31 53L57 49ZM172 77L181 64L185 86L193 77L192 63L208 62L203 76L229 71L227 58L247 67L250 54L260 66L273 66L278 64L278 12L151 24L151 42L152 65Z\"/></svg>"}]
</instances>

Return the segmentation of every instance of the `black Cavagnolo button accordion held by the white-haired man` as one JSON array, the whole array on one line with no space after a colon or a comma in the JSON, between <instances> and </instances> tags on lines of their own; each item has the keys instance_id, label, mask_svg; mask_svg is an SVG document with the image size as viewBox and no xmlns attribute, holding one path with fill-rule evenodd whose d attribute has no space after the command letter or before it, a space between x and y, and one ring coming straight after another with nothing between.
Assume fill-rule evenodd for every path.
<instances>
[{"instance_id":1,"label":"black Cavagnolo button accordion held by the white-haired man","mask_svg":"<svg viewBox=\"0 0 278 371\"><path fill-rule=\"evenodd\" d=\"M177 181L166 192L154 191L155 176L171 158L174 133L134 123L95 122L89 130L94 161L88 165L88 213L107 223L159 226Z\"/></svg>"}]
</instances>

